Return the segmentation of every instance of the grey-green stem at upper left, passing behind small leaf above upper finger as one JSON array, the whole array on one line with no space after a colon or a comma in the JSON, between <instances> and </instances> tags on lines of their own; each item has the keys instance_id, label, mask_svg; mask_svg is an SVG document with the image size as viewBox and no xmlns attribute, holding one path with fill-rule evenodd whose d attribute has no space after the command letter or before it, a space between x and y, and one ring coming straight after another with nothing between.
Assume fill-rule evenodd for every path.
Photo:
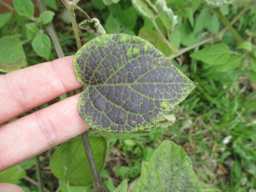
<instances>
[{"instance_id":1,"label":"grey-green stem at upper left, passing behind small leaf above upper finger","mask_svg":"<svg viewBox=\"0 0 256 192\"><path fill-rule=\"evenodd\" d=\"M44 1L42 0L37 0L37 4L38 4L38 8L39 8L39 11L40 13L46 11L46 6L45 6L45 3ZM49 33L51 39L52 39L52 42L53 42L53 45L54 45L54 48L57 52L57 55L59 58L61 57L65 57L64 53L63 53L63 50L60 46L60 43L59 43L59 39L58 39L58 36L57 36L57 33L53 27L53 24L52 22L50 22L49 24L47 24L46 26L46 30L47 32Z\"/></svg>"}]
</instances>

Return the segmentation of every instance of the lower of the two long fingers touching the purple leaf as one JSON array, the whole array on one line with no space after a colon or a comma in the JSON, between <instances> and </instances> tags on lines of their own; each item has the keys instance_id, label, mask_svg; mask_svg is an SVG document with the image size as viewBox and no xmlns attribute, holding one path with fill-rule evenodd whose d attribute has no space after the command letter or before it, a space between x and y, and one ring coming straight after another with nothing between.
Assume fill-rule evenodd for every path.
<instances>
[{"instance_id":1,"label":"lower of the two long fingers touching the purple leaf","mask_svg":"<svg viewBox=\"0 0 256 192\"><path fill-rule=\"evenodd\" d=\"M88 130L78 114L78 96L0 127L0 171Z\"/></svg>"}]
</instances>

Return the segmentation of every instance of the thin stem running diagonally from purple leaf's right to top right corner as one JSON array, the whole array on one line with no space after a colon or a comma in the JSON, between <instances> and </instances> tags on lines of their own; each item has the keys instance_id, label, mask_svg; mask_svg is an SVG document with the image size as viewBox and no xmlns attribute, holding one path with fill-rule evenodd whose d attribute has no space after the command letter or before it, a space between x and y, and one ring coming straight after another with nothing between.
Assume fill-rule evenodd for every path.
<instances>
[{"instance_id":1,"label":"thin stem running diagonally from purple leaf's right to top right corner","mask_svg":"<svg viewBox=\"0 0 256 192\"><path fill-rule=\"evenodd\" d=\"M232 25L233 25L234 23L236 23L237 20L238 20L246 11L248 11L255 3L256 3L256 1L252 2L251 4L249 4L248 6L246 6L242 11L240 11L239 14L238 14L236 17L234 17L233 20L231 20L231 22L230 22L224 29L222 29L215 37L210 37L210 38L205 39L205 40L203 40L203 41L201 41L201 42L198 42L197 44L194 44L194 45L191 45L191 46L186 47L186 48L184 48L184 49L181 49L181 50L179 50L179 51L177 52L177 54L172 54L172 55L170 55L169 58L170 58L170 59L173 59L173 58L175 58L175 57L178 57L178 56L182 55L183 53L185 53L185 52L187 52L187 51L189 51L189 50L191 50L191 49L194 49L194 48L196 48L196 47L198 47L198 46L204 45L204 44L206 44L207 42L210 42L210 41L212 41L212 40L215 40L215 39L221 40L222 37L223 37L223 35L226 33L226 31L227 31L230 27L232 27Z\"/></svg>"}]
</instances>

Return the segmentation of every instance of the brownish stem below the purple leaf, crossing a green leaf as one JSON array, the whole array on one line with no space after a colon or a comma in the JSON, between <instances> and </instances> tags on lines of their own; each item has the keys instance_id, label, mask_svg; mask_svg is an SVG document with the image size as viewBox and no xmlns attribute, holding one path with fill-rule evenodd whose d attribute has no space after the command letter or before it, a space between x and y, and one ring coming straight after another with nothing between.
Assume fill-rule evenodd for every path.
<instances>
[{"instance_id":1,"label":"brownish stem below the purple leaf, crossing a green leaf","mask_svg":"<svg viewBox=\"0 0 256 192\"><path fill-rule=\"evenodd\" d=\"M97 188L101 188L102 191L109 191L102 184L102 181L99 177L87 132L82 133L81 136L82 136L82 140L83 140L83 146L84 146L84 149L86 150L86 154L87 154L88 161L89 161L89 164L90 164L91 172L92 172L92 175L93 175L93 180L95 182L94 186L97 186Z\"/></svg>"}]
</instances>

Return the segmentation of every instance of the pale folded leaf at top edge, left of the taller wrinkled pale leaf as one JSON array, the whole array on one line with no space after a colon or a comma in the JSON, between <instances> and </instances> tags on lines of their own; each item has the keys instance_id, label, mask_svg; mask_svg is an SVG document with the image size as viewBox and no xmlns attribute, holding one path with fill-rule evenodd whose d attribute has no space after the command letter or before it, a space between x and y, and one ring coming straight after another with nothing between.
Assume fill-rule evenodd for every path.
<instances>
[{"instance_id":1,"label":"pale folded leaf at top edge, left of the taller wrinkled pale leaf","mask_svg":"<svg viewBox=\"0 0 256 192\"><path fill-rule=\"evenodd\" d=\"M132 0L134 8L144 17L155 19L157 12L154 8L149 6L144 0Z\"/></svg>"}]
</instances>

